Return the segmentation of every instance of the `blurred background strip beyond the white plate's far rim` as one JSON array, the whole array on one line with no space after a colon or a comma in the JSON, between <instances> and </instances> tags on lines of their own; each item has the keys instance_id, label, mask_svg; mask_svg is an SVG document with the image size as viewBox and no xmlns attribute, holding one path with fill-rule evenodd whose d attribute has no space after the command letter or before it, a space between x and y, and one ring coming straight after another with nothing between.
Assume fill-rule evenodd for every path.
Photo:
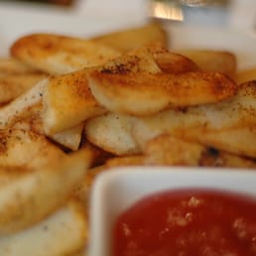
<instances>
[{"instance_id":1,"label":"blurred background strip beyond the white plate's far rim","mask_svg":"<svg viewBox=\"0 0 256 256\"><path fill-rule=\"evenodd\" d=\"M113 19L149 16L202 26L232 26L255 31L256 0L8 0L1 1L49 9L64 9L77 15Z\"/></svg>"}]
</instances>

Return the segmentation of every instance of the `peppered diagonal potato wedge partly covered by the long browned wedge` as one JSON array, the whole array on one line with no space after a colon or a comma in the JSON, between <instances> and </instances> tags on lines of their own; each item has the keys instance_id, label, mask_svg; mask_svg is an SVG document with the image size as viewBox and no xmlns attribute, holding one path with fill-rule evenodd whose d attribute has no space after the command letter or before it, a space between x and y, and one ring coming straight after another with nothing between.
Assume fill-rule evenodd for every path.
<instances>
[{"instance_id":1,"label":"peppered diagonal potato wedge partly covered by the long browned wedge","mask_svg":"<svg viewBox=\"0 0 256 256\"><path fill-rule=\"evenodd\" d=\"M152 54L144 49L136 51L136 55L117 58L104 65L104 68L115 72L145 70L161 72ZM44 127L48 135L66 130L88 118L106 112L106 109L91 94L86 69L51 79L43 102Z\"/></svg>"}]
</instances>

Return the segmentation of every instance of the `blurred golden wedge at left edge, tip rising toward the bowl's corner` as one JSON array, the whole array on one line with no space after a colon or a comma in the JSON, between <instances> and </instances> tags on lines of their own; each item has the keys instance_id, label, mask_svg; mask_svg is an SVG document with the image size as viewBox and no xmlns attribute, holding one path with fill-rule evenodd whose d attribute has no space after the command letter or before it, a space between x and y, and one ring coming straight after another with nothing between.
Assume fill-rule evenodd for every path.
<instances>
[{"instance_id":1,"label":"blurred golden wedge at left edge, tip rising toward the bowl's corner","mask_svg":"<svg viewBox=\"0 0 256 256\"><path fill-rule=\"evenodd\" d=\"M89 152L35 170L0 168L0 234L32 226L62 206L90 166Z\"/></svg>"}]
</instances>

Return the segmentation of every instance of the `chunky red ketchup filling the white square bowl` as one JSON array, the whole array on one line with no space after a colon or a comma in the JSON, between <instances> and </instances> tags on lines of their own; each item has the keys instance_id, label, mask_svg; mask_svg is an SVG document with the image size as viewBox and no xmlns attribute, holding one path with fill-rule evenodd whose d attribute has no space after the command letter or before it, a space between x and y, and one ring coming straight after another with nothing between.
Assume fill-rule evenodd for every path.
<instances>
[{"instance_id":1,"label":"chunky red ketchup filling the white square bowl","mask_svg":"<svg viewBox=\"0 0 256 256\"><path fill-rule=\"evenodd\" d=\"M256 200L205 190L150 195L117 218L112 255L256 255Z\"/></svg>"}]
</instances>

